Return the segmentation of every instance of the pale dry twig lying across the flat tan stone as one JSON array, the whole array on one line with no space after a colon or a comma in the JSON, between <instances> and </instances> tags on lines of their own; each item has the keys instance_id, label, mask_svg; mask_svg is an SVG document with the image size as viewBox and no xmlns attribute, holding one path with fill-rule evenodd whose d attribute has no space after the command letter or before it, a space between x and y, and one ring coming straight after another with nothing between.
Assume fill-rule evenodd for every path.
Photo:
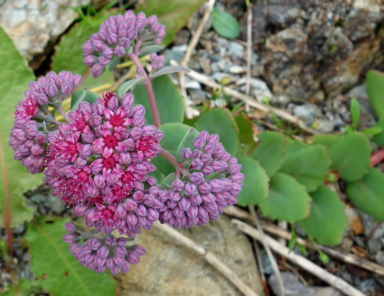
<instances>
[{"instance_id":1,"label":"pale dry twig lying across the flat tan stone","mask_svg":"<svg viewBox=\"0 0 384 296\"><path fill-rule=\"evenodd\" d=\"M189 237L181 234L172 226L161 224L159 221L156 221L153 225L186 247L196 251L200 255L203 255L205 260L207 260L213 267L215 267L218 271L220 271L220 273L228 278L228 280L230 280L233 285L235 285L244 295L258 296L255 291L253 291L247 284L245 284L244 281L232 269L223 263L214 253L205 250L202 245L195 243Z\"/></svg>"}]
</instances>

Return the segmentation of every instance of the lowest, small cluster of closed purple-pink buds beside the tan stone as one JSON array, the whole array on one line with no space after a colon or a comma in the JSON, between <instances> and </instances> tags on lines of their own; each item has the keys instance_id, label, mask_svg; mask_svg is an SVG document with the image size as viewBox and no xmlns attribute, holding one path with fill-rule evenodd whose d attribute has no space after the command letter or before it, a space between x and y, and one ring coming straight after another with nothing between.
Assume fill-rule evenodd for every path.
<instances>
[{"instance_id":1,"label":"lowest, small cluster of closed purple-pink buds beside the tan stone","mask_svg":"<svg viewBox=\"0 0 384 296\"><path fill-rule=\"evenodd\" d=\"M119 271L128 272L129 264L140 262L140 256L146 253L141 245L127 246L125 237L116 239L113 235L93 237L93 234L79 228L73 222L65 224L69 233L63 236L63 240L70 245L71 254L86 268L93 269L98 273L107 268L111 273L117 275ZM81 235L89 238L83 239Z\"/></svg>"}]
</instances>

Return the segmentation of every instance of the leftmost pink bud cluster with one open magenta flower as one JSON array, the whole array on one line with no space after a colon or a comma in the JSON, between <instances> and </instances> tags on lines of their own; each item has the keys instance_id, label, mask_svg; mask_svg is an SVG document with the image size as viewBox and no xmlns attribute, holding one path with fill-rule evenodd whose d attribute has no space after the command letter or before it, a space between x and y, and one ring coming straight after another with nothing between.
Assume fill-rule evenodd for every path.
<instances>
[{"instance_id":1,"label":"leftmost pink bud cluster with one open magenta flower","mask_svg":"<svg viewBox=\"0 0 384 296\"><path fill-rule=\"evenodd\" d=\"M57 129L58 122L48 111L46 104L61 103L73 88L81 82L81 75L51 71L45 77L29 83L24 100L18 101L15 124L11 129L9 145L15 151L14 158L21 160L31 173L41 173L45 166L44 128Z\"/></svg>"}]
</instances>

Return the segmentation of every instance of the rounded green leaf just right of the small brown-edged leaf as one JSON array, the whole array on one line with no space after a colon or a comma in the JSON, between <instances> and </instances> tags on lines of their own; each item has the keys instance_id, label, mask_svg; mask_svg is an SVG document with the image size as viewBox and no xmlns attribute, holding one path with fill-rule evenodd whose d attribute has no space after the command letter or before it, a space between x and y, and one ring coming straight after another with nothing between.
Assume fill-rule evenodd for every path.
<instances>
[{"instance_id":1,"label":"rounded green leaf just right of the small brown-edged leaf","mask_svg":"<svg viewBox=\"0 0 384 296\"><path fill-rule=\"evenodd\" d=\"M286 154L286 140L280 132L264 131L258 134L260 139L251 157L265 169L268 177L275 175L283 164Z\"/></svg>"}]
</instances>

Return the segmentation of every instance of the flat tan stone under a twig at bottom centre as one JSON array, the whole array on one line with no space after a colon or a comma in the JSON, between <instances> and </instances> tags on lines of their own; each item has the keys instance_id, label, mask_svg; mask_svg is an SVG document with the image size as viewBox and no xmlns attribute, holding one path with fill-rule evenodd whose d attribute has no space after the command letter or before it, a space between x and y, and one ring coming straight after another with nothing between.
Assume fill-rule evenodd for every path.
<instances>
[{"instance_id":1,"label":"flat tan stone under a twig at bottom centre","mask_svg":"<svg viewBox=\"0 0 384 296\"><path fill-rule=\"evenodd\" d=\"M207 225L177 231L215 253L256 293L264 295L250 242L230 218L220 215ZM145 247L147 253L138 265L131 265L129 273L115 277L118 296L242 295L201 255L156 227L137 235L134 242Z\"/></svg>"}]
</instances>

